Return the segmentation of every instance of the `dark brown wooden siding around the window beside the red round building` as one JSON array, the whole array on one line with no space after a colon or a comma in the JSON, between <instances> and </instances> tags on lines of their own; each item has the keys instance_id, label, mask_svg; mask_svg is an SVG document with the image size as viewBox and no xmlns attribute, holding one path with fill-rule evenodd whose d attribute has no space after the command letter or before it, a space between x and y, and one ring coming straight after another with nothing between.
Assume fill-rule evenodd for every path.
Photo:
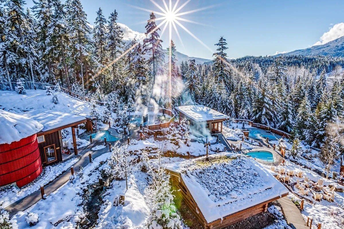
<instances>
[{"instance_id":1,"label":"dark brown wooden siding around the window beside the red round building","mask_svg":"<svg viewBox=\"0 0 344 229\"><path fill-rule=\"evenodd\" d=\"M43 166L53 165L53 164L55 164L57 162L62 161L61 131L55 131L55 132L50 133L50 134L45 134L44 138L45 138L45 141L38 144L38 148L40 149L40 153L41 153L41 160L42 160ZM55 144L56 159L57 160L53 161L53 162L50 162L50 163L46 163L44 147L50 146L52 144Z\"/></svg>"}]
</instances>

